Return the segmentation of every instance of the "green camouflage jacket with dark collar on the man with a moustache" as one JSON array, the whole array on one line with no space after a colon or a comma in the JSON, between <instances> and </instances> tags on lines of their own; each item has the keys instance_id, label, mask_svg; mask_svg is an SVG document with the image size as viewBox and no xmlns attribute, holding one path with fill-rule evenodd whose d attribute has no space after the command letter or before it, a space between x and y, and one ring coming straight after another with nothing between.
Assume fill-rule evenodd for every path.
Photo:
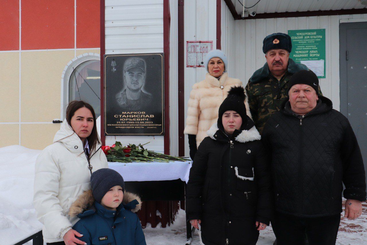
<instances>
[{"instance_id":1,"label":"green camouflage jacket with dark collar on the man with a moustache","mask_svg":"<svg viewBox=\"0 0 367 245\"><path fill-rule=\"evenodd\" d=\"M268 63L255 71L246 85L248 104L255 126L262 134L269 117L280 110L281 103L288 99L288 81L292 75L301 70L309 70L306 65L288 60L286 74L278 81L269 71ZM319 95L322 96L320 86Z\"/></svg>"}]
</instances>

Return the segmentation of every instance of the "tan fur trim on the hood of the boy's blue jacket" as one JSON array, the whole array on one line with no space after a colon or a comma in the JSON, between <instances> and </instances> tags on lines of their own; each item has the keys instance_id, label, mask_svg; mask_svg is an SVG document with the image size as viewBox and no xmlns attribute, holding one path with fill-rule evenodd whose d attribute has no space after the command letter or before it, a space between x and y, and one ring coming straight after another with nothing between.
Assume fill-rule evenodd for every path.
<instances>
[{"instance_id":1,"label":"tan fur trim on the hood of the boy's blue jacket","mask_svg":"<svg viewBox=\"0 0 367 245\"><path fill-rule=\"evenodd\" d=\"M133 213L136 213L141 209L142 201L137 194L125 191L124 198L122 200L123 203L129 203L135 199L139 202L139 204L136 205L133 209L131 209L131 212ZM95 200L93 197L92 190L83 191L83 193L81 193L76 199L76 201L73 202L73 204L70 206L69 216L74 217L80 213L83 213L84 211L92 207L94 201Z\"/></svg>"}]
</instances>

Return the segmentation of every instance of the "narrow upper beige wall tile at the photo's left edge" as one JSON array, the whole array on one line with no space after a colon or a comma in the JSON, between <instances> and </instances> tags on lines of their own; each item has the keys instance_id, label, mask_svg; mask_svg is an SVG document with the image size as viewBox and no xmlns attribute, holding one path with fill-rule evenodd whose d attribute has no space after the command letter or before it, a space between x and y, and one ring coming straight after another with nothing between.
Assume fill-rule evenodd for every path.
<instances>
[{"instance_id":1,"label":"narrow upper beige wall tile at the photo's left edge","mask_svg":"<svg viewBox=\"0 0 367 245\"><path fill-rule=\"evenodd\" d=\"M0 122L19 122L19 52L0 53L0 88Z\"/></svg>"}]
</instances>

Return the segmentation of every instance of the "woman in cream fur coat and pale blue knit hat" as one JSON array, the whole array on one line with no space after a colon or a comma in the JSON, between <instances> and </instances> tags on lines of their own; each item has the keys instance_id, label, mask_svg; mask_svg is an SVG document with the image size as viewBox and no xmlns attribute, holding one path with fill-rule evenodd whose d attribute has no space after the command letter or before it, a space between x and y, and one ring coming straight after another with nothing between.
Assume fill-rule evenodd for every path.
<instances>
[{"instance_id":1,"label":"woman in cream fur coat and pale blue knit hat","mask_svg":"<svg viewBox=\"0 0 367 245\"><path fill-rule=\"evenodd\" d=\"M243 86L239 79L228 77L226 72L228 60L221 50L210 51L204 64L208 73L203 81L192 86L188 102L186 127L183 131L189 137L192 160L197 147L207 136L207 130L218 120L218 109L227 97L228 90L233 86ZM245 106L246 114L251 118L247 96Z\"/></svg>"}]
</instances>

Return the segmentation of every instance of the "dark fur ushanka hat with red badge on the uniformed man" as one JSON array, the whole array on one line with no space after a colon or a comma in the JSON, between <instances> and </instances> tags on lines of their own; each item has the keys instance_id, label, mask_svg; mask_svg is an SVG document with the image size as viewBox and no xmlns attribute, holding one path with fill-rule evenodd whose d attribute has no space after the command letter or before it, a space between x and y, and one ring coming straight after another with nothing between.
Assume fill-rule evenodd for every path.
<instances>
[{"instance_id":1,"label":"dark fur ushanka hat with red badge on the uniformed man","mask_svg":"<svg viewBox=\"0 0 367 245\"><path fill-rule=\"evenodd\" d=\"M273 33L264 38L262 41L262 52L266 54L272 49L284 49L289 53L292 51L291 37L286 33Z\"/></svg>"}]
</instances>

